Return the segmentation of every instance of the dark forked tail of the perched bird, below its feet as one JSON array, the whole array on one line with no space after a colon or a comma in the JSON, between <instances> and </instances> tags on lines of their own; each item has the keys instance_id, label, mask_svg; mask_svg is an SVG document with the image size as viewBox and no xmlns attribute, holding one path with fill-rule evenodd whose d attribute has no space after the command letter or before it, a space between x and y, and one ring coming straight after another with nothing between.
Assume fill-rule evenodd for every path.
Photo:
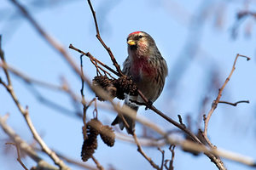
<instances>
[{"instance_id":1,"label":"dark forked tail of the perched bird, below its feet","mask_svg":"<svg viewBox=\"0 0 256 170\"><path fill-rule=\"evenodd\" d=\"M125 100L125 105L129 106L132 110L134 110L136 112L138 110L138 106L135 104L132 104L130 101ZM125 122L127 122L127 125L129 127L125 126L125 122L123 121L121 116L124 116ZM113 120L113 122L111 123L112 126L116 125L116 124L119 124L119 127L121 130L123 130L125 127L127 133L132 134L134 132L135 120L132 119L130 116L126 116L125 114L119 113L119 115L116 116L115 119Z\"/></svg>"}]
</instances>

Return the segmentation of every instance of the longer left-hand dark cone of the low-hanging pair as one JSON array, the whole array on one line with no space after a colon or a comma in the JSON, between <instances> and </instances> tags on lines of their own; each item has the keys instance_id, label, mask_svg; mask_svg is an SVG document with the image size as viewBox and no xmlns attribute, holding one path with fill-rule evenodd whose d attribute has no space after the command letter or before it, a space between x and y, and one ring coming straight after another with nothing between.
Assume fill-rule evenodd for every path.
<instances>
[{"instance_id":1,"label":"longer left-hand dark cone of the low-hanging pair","mask_svg":"<svg viewBox=\"0 0 256 170\"><path fill-rule=\"evenodd\" d=\"M87 161L97 149L97 135L100 132L102 123L96 119L91 119L86 125L87 138L84 139L82 146L81 157L83 161ZM84 127L83 127L84 134Z\"/></svg>"}]
</instances>

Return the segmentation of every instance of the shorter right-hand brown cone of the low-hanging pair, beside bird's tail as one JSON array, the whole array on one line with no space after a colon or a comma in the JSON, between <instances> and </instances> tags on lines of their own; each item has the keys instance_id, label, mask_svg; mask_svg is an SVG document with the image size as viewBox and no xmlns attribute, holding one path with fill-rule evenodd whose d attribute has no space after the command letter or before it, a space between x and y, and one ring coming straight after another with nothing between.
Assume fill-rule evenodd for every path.
<instances>
[{"instance_id":1,"label":"shorter right-hand brown cone of the low-hanging pair, beside bird's tail","mask_svg":"<svg viewBox=\"0 0 256 170\"><path fill-rule=\"evenodd\" d=\"M102 126L100 132L101 138L105 144L112 147L114 144L115 134L113 133L113 128L109 126Z\"/></svg>"}]
</instances>

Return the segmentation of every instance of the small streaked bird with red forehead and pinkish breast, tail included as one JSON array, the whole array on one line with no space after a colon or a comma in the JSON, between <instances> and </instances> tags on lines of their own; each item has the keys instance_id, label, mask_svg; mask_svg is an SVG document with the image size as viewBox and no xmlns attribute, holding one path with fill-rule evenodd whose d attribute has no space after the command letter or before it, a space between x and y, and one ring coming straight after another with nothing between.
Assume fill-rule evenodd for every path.
<instances>
[{"instance_id":1,"label":"small streaked bird with red forehead and pinkish breast, tail included","mask_svg":"<svg viewBox=\"0 0 256 170\"><path fill-rule=\"evenodd\" d=\"M129 34L127 44L128 57L123 64L123 72L126 76L131 76L137 88L153 103L160 96L165 85L168 72L166 60L161 56L154 39L144 31ZM139 95L125 94L125 105L137 111L139 105L132 101L144 103ZM129 127L125 127L125 123L119 116L113 120L111 125L119 124L121 130L125 127L127 133L133 134L135 120L125 115L124 118Z\"/></svg>"}]
</instances>

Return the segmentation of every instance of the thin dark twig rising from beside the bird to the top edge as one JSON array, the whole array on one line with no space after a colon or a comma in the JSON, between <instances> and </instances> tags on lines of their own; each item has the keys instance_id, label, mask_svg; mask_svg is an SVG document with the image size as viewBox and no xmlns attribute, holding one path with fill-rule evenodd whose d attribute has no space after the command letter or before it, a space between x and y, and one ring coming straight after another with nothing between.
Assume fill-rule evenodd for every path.
<instances>
[{"instance_id":1,"label":"thin dark twig rising from beside the bird to the top edge","mask_svg":"<svg viewBox=\"0 0 256 170\"><path fill-rule=\"evenodd\" d=\"M98 27L98 24L97 24L97 20L96 20L96 12L95 10L93 9L91 3L90 3L90 0L87 1L89 6L90 6L90 10L91 10L91 13L93 15L93 19L94 19L94 23L95 23L95 26L96 26L96 37L98 38L98 40L102 43L102 46L108 51L108 54L110 56L110 59L112 60L113 62L113 65L115 66L116 68L116 71L118 71L119 73L119 76L124 76L123 72L121 71L120 69L120 65L117 63L116 59L114 58L113 56L113 53L111 51L110 48L108 48L108 46L105 44L105 42L103 42L102 40L102 37L100 35L100 31L99 31L99 27Z\"/></svg>"}]
</instances>

